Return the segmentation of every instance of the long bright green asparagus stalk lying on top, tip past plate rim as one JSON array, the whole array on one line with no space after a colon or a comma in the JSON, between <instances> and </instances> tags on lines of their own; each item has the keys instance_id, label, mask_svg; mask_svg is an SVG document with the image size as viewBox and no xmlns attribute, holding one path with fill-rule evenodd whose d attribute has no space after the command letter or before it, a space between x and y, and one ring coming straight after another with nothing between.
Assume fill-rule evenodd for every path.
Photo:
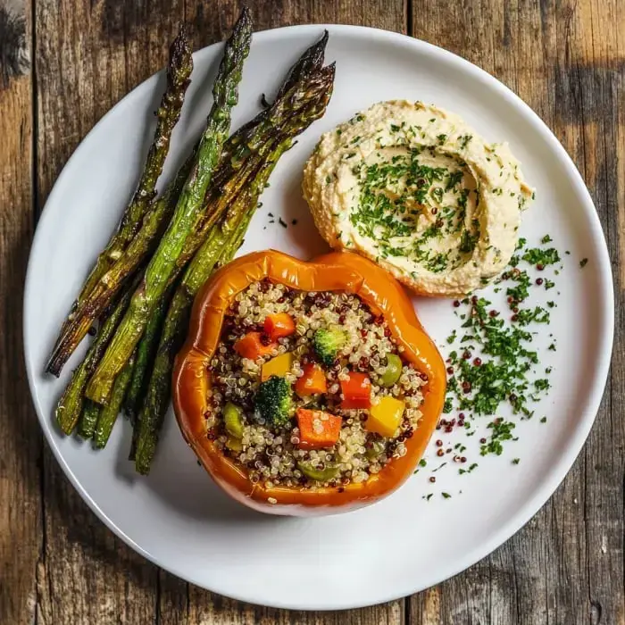
<instances>
[{"instance_id":1,"label":"long bright green asparagus stalk lying on top, tip past plate rim","mask_svg":"<svg viewBox=\"0 0 625 625\"><path fill-rule=\"evenodd\" d=\"M113 381L137 346L150 312L174 277L185 241L201 217L212 171L218 162L221 147L228 138L230 112L237 104L238 83L251 38L251 20L249 12L244 8L232 36L226 42L212 90L214 103L198 148L197 161L182 189L170 226L147 266L143 283L137 287L128 312L87 385L87 396L98 404L108 403Z\"/></svg>"}]
</instances>

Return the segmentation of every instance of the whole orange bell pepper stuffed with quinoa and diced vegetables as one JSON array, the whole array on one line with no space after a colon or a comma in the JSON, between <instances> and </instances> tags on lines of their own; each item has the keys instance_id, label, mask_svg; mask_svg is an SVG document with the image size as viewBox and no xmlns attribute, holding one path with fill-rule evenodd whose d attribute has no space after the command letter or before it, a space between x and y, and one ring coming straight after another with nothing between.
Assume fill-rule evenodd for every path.
<instances>
[{"instance_id":1,"label":"whole orange bell pepper stuffed with quinoa and diced vegetables","mask_svg":"<svg viewBox=\"0 0 625 625\"><path fill-rule=\"evenodd\" d=\"M173 379L180 429L230 496L262 512L345 512L414 471L445 365L410 299L349 252L247 254L196 298Z\"/></svg>"}]
</instances>

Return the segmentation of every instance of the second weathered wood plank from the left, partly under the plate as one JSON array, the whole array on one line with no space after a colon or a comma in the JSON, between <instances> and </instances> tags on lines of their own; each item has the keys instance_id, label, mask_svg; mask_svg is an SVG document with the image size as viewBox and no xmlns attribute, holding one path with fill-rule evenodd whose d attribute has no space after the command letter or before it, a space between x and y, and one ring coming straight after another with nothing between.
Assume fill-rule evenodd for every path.
<instances>
[{"instance_id":1,"label":"second weathered wood plank from the left, partly under the plate","mask_svg":"<svg viewBox=\"0 0 625 625\"><path fill-rule=\"evenodd\" d=\"M177 30L176 0L36 4L39 209L88 130L160 69ZM38 606L45 623L154 621L157 569L112 536L46 450L45 552Z\"/></svg>"}]
</instances>

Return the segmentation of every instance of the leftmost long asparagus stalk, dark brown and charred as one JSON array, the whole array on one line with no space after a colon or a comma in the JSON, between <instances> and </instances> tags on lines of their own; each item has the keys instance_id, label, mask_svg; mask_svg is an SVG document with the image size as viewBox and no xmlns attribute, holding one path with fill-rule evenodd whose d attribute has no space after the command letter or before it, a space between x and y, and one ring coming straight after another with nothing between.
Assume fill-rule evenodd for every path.
<instances>
[{"instance_id":1,"label":"leftmost long asparagus stalk, dark brown and charred","mask_svg":"<svg viewBox=\"0 0 625 625\"><path fill-rule=\"evenodd\" d=\"M121 256L129 241L135 236L141 226L148 206L156 195L156 181L161 175L162 166L169 152L171 133L179 121L192 69L191 50L184 28L180 26L178 37L174 39L170 48L167 87L162 96L161 106L156 112L158 121L154 132L154 141L147 154L145 169L137 185L137 190L121 218L117 231L109 240L104 251L98 256L96 266L91 270L78 299L72 306L70 317L65 321L61 330L62 337L65 327L71 323L73 313L85 301L98 280ZM54 372L54 375L58 376L60 369L57 371L51 365L52 362L48 364L46 371Z\"/></svg>"}]
</instances>

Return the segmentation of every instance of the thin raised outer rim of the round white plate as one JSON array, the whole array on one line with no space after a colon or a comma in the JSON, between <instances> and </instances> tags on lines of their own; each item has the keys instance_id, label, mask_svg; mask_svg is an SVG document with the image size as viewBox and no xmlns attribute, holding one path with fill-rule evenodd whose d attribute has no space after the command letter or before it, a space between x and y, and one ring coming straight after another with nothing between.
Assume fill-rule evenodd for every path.
<instances>
[{"instance_id":1,"label":"thin raised outer rim of the round white plate","mask_svg":"<svg viewBox=\"0 0 625 625\"><path fill-rule=\"evenodd\" d=\"M432 587L445 581L446 579L454 577L462 571L465 571L476 562L479 562L480 560L487 557L487 555L493 553L499 546L502 546L505 542L507 542L514 534L516 534L521 528L523 528L537 512L539 512L539 510L546 504L551 496L554 495L555 490L560 486L563 479L568 475L569 471L571 471L571 467L576 461L583 446L586 444L590 430L592 429L596 421L597 412L604 397L604 389L609 380L609 369L612 361L612 347L614 335L614 287L612 279L612 265L610 261L604 229L601 225L601 221L599 220L595 203L593 202L593 199L588 192L586 183L584 182L584 179L582 178L579 170L577 169L575 163L572 161L571 156L560 143L559 139L554 135L552 129L550 129L546 125L546 122L538 116L537 112L535 112L529 106L529 104L526 104L520 96L517 96L511 88L506 87L504 83L502 83L499 79L496 79L496 77L492 76L487 71L482 70L474 63L471 63L470 61L464 59L462 56L454 54L453 52L450 52L445 48L436 46L422 39L410 37L409 35L405 35L403 33L371 28L367 26L315 23L298 24L294 26L279 27L275 29L264 29L254 32L253 44L254 41L258 41L259 39L271 40L271 37L279 38L284 33L299 32L304 36L311 33L318 34L321 29L328 29L330 35L335 34L337 37L350 35L360 35L364 37L368 36L377 40L386 40L386 42L389 44L410 49L410 51L414 53L425 53L432 56L437 56L439 58L446 58L448 61L454 63L456 67L458 67L465 73L468 73L477 79L486 81L490 87L496 89L500 96L504 97L508 101L512 100L512 104L514 104L516 107L521 108L521 112L525 114L525 116L529 119L532 125L537 129L537 132L546 137L546 139L548 139L550 146L552 146L554 148L554 151L559 155L567 173L571 175L571 184L574 187L576 194L580 197L581 202L585 206L588 219L591 223L591 236L596 242L598 248L598 254L595 260L597 261L599 271L599 286L601 289L600 292L605 299L605 305L604 309L602 310L601 318L602 329L600 331L599 346L597 348L597 353L600 354L600 357L597 362L595 382L591 387L591 393L589 393L587 397L587 402L585 406L579 412L581 419L579 420L577 428L571 434L571 443L567 447L565 447L558 461L551 465L551 470L547 474L547 479L543 481L541 486L534 491L529 499L521 504L518 511L513 514L510 519L505 521L498 529L498 531L487 541L482 542L477 548L474 548L471 551L462 554L462 557L458 560L458 564L453 567L449 567L449 571L444 576L442 576L440 579L433 579L431 585L429 586ZM200 48L193 53L194 57L196 57L196 55L198 54L204 54L206 51L212 50L222 45L223 42L217 42L215 44L212 44L211 46L204 46L203 48ZM271 602L271 604L266 604L263 603L261 596L256 596L254 594L254 591L246 592L247 588L245 590L242 589L240 592L233 592L231 589L224 590L220 587L219 584L213 584L210 588L206 587L204 583L202 583L198 579L194 579L194 575L192 572L180 570L180 568L176 566L175 563L164 564L158 557L146 551L146 549L138 545L137 542L131 539L121 528L115 525L115 523L112 522L111 519L109 519L109 517L99 507L96 501L91 496L89 496L87 491L80 484L79 479L71 471L71 468L69 467L67 462L65 462L63 454L61 453L57 445L56 437L54 437L53 428L49 423L50 415L45 415L43 413L37 401L35 372L33 371L33 367L31 366L29 358L27 357L27 354L29 353L30 339L29 330L26 323L26 310L27 306L29 305L29 301L34 295L32 293L34 289L32 285L32 268L37 262L37 249L41 245L40 239L43 237L41 233L44 231L44 229L46 229L45 224L46 220L48 219L46 206L54 201L56 195L55 192L58 192L58 187L60 187L60 181L64 177L69 175L68 172L71 162L73 162L73 160L76 158L80 158L81 150L84 149L85 144L87 144L87 140L92 135L92 133L95 134L96 129L98 129L101 124L104 124L104 121L106 121L106 119L109 117L109 115L112 114L113 111L116 111L121 107L128 105L133 97L137 97L139 95L139 92L149 89L151 87L151 84L155 83L163 72L164 70L155 72L152 76L148 77L147 79L139 83L136 87L131 89L129 93L123 96L119 102L114 104L107 112L105 112L102 118L98 120L93 128L87 132L87 135L83 137L79 145L76 146L70 158L63 165L63 169L59 173L57 179L54 181L54 186L52 187L49 195L46 198L46 204L44 205L44 208L37 221L37 227L32 238L29 250L29 262L26 271L22 304L22 336L24 344L23 359L27 371L31 400L35 406L35 411L37 412L37 420L39 421L39 425L43 430L47 445L52 449L56 462L61 465L63 473L70 480L72 487L74 487L78 491L79 496L83 499L83 501L85 501L85 503L89 506L92 512L96 513L98 519L104 522L104 525L108 529L110 529L117 537L121 538L121 540L125 542L128 546L130 546L134 551L136 551L137 554L140 554L148 561L153 562L156 566L164 569L165 571L171 572L173 575L176 575L180 579L184 579L188 583L195 584L198 587L203 587L204 589L214 593L218 593L221 596L227 596L231 599L245 602L248 604L267 605L279 609L328 611L348 610L383 604L390 601L396 601L405 596L411 596L412 594L425 590L427 587L415 588L410 584L407 584L399 591L387 593L386 595L377 597L372 601L366 600L363 603L358 604L354 604L353 602L341 603L340 601L326 604L292 604L288 603L288 601Z\"/></svg>"}]
</instances>

